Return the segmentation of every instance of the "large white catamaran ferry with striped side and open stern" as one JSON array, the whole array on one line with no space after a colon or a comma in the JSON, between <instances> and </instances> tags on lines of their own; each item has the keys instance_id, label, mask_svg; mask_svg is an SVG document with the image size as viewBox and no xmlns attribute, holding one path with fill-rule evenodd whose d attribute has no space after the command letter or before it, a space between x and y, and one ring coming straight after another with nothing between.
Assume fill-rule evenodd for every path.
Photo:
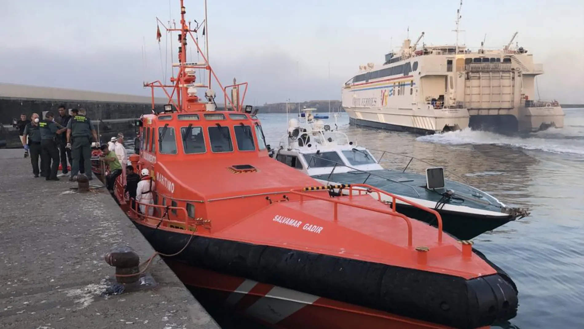
<instances>
[{"instance_id":1,"label":"large white catamaran ferry with striped side and open stern","mask_svg":"<svg viewBox=\"0 0 584 329\"><path fill-rule=\"evenodd\" d=\"M462 1L460 2L462 6ZM564 126L557 101L536 98L534 82L542 64L523 47L477 51L457 43L426 46L406 39L398 53L381 65L361 65L342 87L349 122L374 128L432 134L443 131L495 129L532 132Z\"/></svg>"}]
</instances>

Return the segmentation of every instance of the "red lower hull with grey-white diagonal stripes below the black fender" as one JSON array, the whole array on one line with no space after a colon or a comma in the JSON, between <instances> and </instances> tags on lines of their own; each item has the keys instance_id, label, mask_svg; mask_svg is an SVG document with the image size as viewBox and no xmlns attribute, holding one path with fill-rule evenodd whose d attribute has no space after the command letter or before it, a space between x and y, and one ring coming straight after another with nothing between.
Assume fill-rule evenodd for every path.
<instances>
[{"instance_id":1,"label":"red lower hull with grey-white diagonal stripes below the black fender","mask_svg":"<svg viewBox=\"0 0 584 329\"><path fill-rule=\"evenodd\" d=\"M278 329L446 329L443 325L398 317L326 298L267 285L237 276L194 268L166 260L166 264L221 326L242 328L246 319L263 328ZM242 319L234 321L233 314ZM250 328L251 324L248 325ZM254 329L257 327L253 326ZM485 327L488 328L488 327Z\"/></svg>"}]
</instances>

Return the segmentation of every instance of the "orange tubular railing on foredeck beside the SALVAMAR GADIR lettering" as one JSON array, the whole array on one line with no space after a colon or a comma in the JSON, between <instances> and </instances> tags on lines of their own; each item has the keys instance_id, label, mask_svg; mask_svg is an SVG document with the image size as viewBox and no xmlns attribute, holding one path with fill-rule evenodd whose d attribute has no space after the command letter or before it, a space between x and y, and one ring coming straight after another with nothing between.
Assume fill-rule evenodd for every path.
<instances>
[{"instance_id":1,"label":"orange tubular railing on foredeck beside the SALVAMAR GADIR lettering","mask_svg":"<svg viewBox=\"0 0 584 329\"><path fill-rule=\"evenodd\" d=\"M369 192L369 193L375 192L378 195L377 199L379 201L381 201L381 194L391 196L391 200L392 200L391 208L392 209L391 209L391 211L384 210L384 209L377 209L377 208L373 208L373 207L369 207L369 206L356 205L354 203L345 202L345 201L342 201L339 199L324 198L322 196L315 196L315 195L310 195L309 193L306 193L308 191L316 191L316 190L324 190L324 189L343 189L343 188L349 189L349 200L351 200L353 198L353 191L357 191L358 194L361 194L361 192L363 192L363 191ZM354 189L354 188L361 188L361 189ZM365 190L363 190L363 189L365 189ZM401 219L404 219L406 221L406 224L408 225L408 247L411 247L412 246L412 222L411 222L411 219L409 217L405 216L404 214L398 213L397 210L395 210L396 200L400 200L401 202L407 203L408 205L412 205L418 209L425 210L426 212L432 213L432 214L434 214L434 216L436 216L436 219L438 221L438 243L442 243L442 217L440 216L440 214L436 210L430 209L430 208L422 206L422 205L418 205L418 203L415 203L415 202L412 202L412 201L407 200L405 198L402 198L401 196L397 196L397 195L394 195L392 193L380 190L378 188L375 188L374 186L367 185L367 184L328 185L328 186L317 186L315 188L303 188L301 191L298 191L298 189L291 189L290 192L300 196L301 203L304 201L305 197L312 198L312 199L318 199L318 200L324 200L327 202L334 203L333 220L335 220L335 221L338 220L338 205L356 207L356 208L360 208L360 209L364 209L364 210L369 210L371 212L389 214L391 216L400 217Z\"/></svg>"}]
</instances>

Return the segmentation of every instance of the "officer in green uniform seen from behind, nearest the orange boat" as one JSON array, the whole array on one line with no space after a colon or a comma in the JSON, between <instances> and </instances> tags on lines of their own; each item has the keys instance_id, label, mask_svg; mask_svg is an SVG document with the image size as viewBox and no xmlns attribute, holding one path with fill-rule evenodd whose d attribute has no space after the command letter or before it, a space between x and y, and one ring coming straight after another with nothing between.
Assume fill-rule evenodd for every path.
<instances>
[{"instance_id":1,"label":"officer in green uniform seen from behind, nearest the orange boat","mask_svg":"<svg viewBox=\"0 0 584 329\"><path fill-rule=\"evenodd\" d=\"M73 158L73 164L71 165L71 176L69 176L69 181L74 181L74 177L77 176L79 172L79 163L81 162L81 157L84 160L85 176L87 179L91 180L91 137L98 143L98 134L95 132L95 128L85 116L85 110L79 109L78 115L75 115L69 119L67 123L67 148L71 148L71 157Z\"/></svg>"}]
</instances>

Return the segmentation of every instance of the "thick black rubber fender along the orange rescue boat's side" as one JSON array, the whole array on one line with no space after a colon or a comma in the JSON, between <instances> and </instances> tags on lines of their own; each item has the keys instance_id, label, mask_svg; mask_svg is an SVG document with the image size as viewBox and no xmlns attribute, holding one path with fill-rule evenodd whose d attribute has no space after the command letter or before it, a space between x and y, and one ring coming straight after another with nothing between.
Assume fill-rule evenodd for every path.
<instances>
[{"instance_id":1,"label":"thick black rubber fender along the orange rescue boat's side","mask_svg":"<svg viewBox=\"0 0 584 329\"><path fill-rule=\"evenodd\" d=\"M466 280L313 252L191 238L189 233L134 224L162 254L184 248L173 261L354 307L465 329L516 316L517 292L512 281L499 273Z\"/></svg>"}]
</instances>

